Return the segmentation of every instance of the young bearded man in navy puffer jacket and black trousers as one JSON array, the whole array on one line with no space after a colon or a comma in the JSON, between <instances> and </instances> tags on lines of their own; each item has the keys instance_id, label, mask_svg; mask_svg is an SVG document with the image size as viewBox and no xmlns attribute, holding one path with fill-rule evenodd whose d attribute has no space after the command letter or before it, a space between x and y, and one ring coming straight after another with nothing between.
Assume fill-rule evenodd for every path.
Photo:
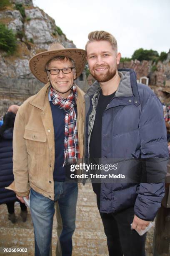
<instances>
[{"instance_id":1,"label":"young bearded man in navy puffer jacket and black trousers","mask_svg":"<svg viewBox=\"0 0 170 256\"><path fill-rule=\"evenodd\" d=\"M92 183L109 255L144 256L146 234L139 236L134 229L144 230L155 218L164 196L164 184L146 183L138 175L141 164L137 159L145 159L145 174L152 182L151 177L157 174L154 161L168 158L162 105L148 86L137 84L132 69L117 71L121 55L114 36L94 31L88 39L87 61L97 81L85 95L86 158L94 164L116 159L120 173L132 174L132 180L145 182L127 183L120 179L114 183L101 179L101 184ZM165 177L163 160L161 171Z\"/></svg>"}]
</instances>

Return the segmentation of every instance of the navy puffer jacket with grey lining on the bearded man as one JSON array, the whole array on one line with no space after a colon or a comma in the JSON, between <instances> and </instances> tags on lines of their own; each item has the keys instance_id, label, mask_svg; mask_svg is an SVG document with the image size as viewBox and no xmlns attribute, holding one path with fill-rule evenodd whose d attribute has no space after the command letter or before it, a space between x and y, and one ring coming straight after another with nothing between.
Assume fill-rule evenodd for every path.
<instances>
[{"instance_id":1,"label":"navy puffer jacket with grey lining on the bearded man","mask_svg":"<svg viewBox=\"0 0 170 256\"><path fill-rule=\"evenodd\" d=\"M161 102L150 87L137 84L133 69L121 69L119 72L119 87L102 116L102 159L124 159L120 162L122 172L135 170L128 159L145 159L145 168L147 172L152 169L153 177L159 168L166 173L169 154ZM99 95L97 82L85 95L86 158L89 157L90 135ZM150 159L154 159L156 167ZM137 164L136 171L138 168ZM155 183L102 182L100 212L117 212L134 206L135 215L139 218L153 220L165 192L164 183Z\"/></svg>"}]
</instances>

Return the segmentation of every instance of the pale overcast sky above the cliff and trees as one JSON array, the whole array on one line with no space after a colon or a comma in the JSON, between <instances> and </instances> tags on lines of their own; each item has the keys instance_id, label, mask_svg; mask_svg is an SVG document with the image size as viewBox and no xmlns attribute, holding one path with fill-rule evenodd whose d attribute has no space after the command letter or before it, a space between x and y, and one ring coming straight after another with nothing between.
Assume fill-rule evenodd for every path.
<instances>
[{"instance_id":1,"label":"pale overcast sky above the cliff and trees","mask_svg":"<svg viewBox=\"0 0 170 256\"><path fill-rule=\"evenodd\" d=\"M85 49L88 33L115 36L122 57L136 49L168 52L170 0L33 0L50 15L77 48Z\"/></svg>"}]
</instances>

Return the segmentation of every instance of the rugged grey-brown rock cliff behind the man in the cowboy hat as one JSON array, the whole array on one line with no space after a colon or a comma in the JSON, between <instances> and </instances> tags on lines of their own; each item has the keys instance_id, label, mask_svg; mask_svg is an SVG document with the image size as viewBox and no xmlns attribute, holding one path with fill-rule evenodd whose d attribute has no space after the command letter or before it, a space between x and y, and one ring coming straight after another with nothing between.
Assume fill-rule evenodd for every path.
<instances>
[{"instance_id":1,"label":"rugged grey-brown rock cliff behind the man in the cowboy hat","mask_svg":"<svg viewBox=\"0 0 170 256\"><path fill-rule=\"evenodd\" d=\"M5 23L12 29L17 34L18 41L17 52L13 56L7 56L5 52L0 51L0 115L5 112L2 100L23 102L44 85L30 72L28 62L33 55L46 51L50 44L56 41L65 48L75 48L75 44L56 26L55 20L43 10L35 8L32 0L10 2L10 6L0 11L0 23ZM16 10L16 4L23 6L25 17L21 15L20 10ZM87 90L85 73L76 82L82 90Z\"/></svg>"}]
</instances>

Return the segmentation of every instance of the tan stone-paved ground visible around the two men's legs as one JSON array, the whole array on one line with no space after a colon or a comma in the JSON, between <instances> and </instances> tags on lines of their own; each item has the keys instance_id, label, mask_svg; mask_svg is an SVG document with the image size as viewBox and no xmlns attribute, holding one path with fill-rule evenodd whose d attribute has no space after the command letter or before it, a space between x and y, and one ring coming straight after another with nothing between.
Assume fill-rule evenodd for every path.
<instances>
[{"instance_id":1,"label":"tan stone-paved ground visible around the two men's legs","mask_svg":"<svg viewBox=\"0 0 170 256\"><path fill-rule=\"evenodd\" d=\"M17 222L11 223L7 219L6 205L0 205L0 256L3 255L34 255L34 234L33 225L28 210L28 220L23 223L20 217L20 205L15 203L15 214ZM147 256L153 256L152 243L153 231L151 228L147 235L146 251ZM56 218L54 216L52 235L52 256L55 255L57 243ZM24 253L3 253L3 248L27 248ZM106 237L103 225L96 205L95 194L91 184L79 189L76 230L73 235L72 256L108 256Z\"/></svg>"}]
</instances>

